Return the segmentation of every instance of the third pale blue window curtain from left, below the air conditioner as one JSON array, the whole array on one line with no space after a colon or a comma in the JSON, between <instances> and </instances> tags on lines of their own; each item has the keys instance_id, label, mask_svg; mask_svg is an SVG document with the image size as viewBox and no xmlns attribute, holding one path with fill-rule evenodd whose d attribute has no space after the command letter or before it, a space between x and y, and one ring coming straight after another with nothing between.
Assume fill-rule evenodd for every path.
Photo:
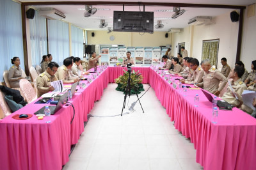
<instances>
[{"instance_id":1,"label":"third pale blue window curtain from left, below the air conditioner","mask_svg":"<svg viewBox=\"0 0 256 170\"><path fill-rule=\"evenodd\" d=\"M69 56L68 24L60 20L48 20L48 43L52 61L60 66Z\"/></svg>"}]
</instances>

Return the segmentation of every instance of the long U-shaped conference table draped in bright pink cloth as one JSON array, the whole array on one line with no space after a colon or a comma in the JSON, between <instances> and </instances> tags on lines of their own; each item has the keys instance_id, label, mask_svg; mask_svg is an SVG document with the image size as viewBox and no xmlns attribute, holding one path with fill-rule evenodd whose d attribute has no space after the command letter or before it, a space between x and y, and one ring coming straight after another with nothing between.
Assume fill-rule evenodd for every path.
<instances>
[{"instance_id":1,"label":"long U-shaped conference table draped in bright pink cloth","mask_svg":"<svg viewBox=\"0 0 256 170\"><path fill-rule=\"evenodd\" d=\"M15 114L33 114L42 107L33 102L0 120L0 169L61 169L68 162L70 145L77 143L84 130L94 102L124 70L127 68L108 66L90 84L83 81L86 88L72 98L75 115L73 108L65 105L44 120L37 120L35 115L28 120L12 118ZM133 67L133 71L141 73L143 83L152 86L170 121L175 121L175 128L190 138L196 162L204 169L256 169L255 118L233 108L219 110L218 123L213 124L212 104L201 90L188 89L185 94L164 79L170 75L162 76L162 70L157 73L151 67ZM195 94L200 97L199 107L194 106Z\"/></svg>"}]
</instances>

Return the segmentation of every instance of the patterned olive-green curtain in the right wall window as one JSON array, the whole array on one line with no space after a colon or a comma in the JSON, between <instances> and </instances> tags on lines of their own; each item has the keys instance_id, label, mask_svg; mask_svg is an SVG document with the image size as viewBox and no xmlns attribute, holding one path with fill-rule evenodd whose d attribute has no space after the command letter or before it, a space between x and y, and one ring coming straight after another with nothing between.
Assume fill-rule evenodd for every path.
<instances>
[{"instance_id":1,"label":"patterned olive-green curtain in the right wall window","mask_svg":"<svg viewBox=\"0 0 256 170\"><path fill-rule=\"evenodd\" d=\"M209 59L211 65L214 65L217 67L219 40L203 41L202 46L203 46L202 47L202 61L204 59Z\"/></svg>"}]
</instances>

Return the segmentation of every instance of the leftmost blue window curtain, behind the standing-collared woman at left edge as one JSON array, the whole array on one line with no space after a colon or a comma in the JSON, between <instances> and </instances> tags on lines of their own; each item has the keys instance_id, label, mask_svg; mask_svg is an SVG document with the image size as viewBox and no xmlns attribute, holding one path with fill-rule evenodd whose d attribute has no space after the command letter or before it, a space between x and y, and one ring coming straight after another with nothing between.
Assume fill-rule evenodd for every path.
<instances>
[{"instance_id":1,"label":"leftmost blue window curtain, behind the standing-collared woman at left edge","mask_svg":"<svg viewBox=\"0 0 256 170\"><path fill-rule=\"evenodd\" d=\"M0 79L3 82L4 70L12 66L11 59L20 58L20 67L24 70L22 42L21 6L12 0L0 1Z\"/></svg>"}]
</instances>

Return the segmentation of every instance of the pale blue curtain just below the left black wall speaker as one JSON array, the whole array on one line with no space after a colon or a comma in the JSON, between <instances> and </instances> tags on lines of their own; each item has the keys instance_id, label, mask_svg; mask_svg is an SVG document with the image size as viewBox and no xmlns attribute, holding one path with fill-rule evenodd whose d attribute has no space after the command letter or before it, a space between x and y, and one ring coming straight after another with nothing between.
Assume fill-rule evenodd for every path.
<instances>
[{"instance_id":1,"label":"pale blue curtain just below the left black wall speaker","mask_svg":"<svg viewBox=\"0 0 256 170\"><path fill-rule=\"evenodd\" d=\"M29 19L32 66L40 65L42 56L47 55L46 19L35 11L34 19Z\"/></svg>"}]
</instances>

